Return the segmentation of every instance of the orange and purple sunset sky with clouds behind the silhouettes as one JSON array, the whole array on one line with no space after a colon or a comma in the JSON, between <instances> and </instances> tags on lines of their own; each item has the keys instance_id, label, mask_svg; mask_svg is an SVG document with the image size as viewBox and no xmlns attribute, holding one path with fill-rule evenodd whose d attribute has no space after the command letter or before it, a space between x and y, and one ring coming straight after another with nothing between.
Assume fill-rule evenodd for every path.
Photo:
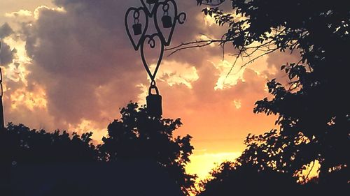
<instances>
[{"instance_id":1,"label":"orange and purple sunset sky with clouds behind the silhouettes","mask_svg":"<svg viewBox=\"0 0 350 196\"><path fill-rule=\"evenodd\" d=\"M176 27L172 46L181 42L221 38L225 28L205 17L195 0L178 0L188 20ZM94 142L118 119L119 108L145 103L148 77L127 38L124 15L139 0L1 0L5 121L30 128L93 131ZM223 5L230 12L230 2ZM151 32L149 32L151 33ZM226 45L210 45L167 56L157 84L165 118L180 117L176 135L193 136L195 151L188 171L207 176L214 163L233 160L244 150L248 133L274 128L274 116L253 114L254 103L268 96L267 80L286 82L279 71L297 54L269 54L239 69L239 59ZM150 59L155 55L150 54Z\"/></svg>"}]
</instances>

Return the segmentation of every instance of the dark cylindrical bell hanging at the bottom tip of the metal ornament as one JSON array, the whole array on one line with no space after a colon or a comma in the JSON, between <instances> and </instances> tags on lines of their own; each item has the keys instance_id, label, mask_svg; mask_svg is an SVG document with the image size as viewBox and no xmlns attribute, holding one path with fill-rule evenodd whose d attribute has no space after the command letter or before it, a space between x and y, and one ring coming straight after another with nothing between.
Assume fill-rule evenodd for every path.
<instances>
[{"instance_id":1,"label":"dark cylindrical bell hanging at the bottom tip of the metal ornament","mask_svg":"<svg viewBox=\"0 0 350 196\"><path fill-rule=\"evenodd\" d=\"M155 89L156 94L152 94L152 89ZM147 112L150 116L160 117L162 111L162 96L160 96L157 86L151 86L146 97Z\"/></svg>"}]
</instances>

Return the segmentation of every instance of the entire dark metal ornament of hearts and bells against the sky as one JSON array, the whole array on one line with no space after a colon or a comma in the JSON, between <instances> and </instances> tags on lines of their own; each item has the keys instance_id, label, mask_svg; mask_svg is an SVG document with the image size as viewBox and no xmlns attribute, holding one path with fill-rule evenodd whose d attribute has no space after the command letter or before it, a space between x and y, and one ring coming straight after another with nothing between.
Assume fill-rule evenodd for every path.
<instances>
[{"instance_id":1,"label":"entire dark metal ornament of hearts and bells against the sky","mask_svg":"<svg viewBox=\"0 0 350 196\"><path fill-rule=\"evenodd\" d=\"M172 42L172 36L176 24L183 24L186 20L186 13L178 13L178 8L175 0L165 0L160 2L159 0L141 0L142 7L129 8L125 14L125 29L127 36L129 36L134 50L138 51L141 47L141 60L146 68L146 71L151 78L151 85L149 87L147 101L147 110L151 116L162 116L162 96L160 96L158 88L155 84L155 75L157 75L160 63L165 50L165 46L169 46ZM169 12L172 10L172 12ZM158 13L162 13L161 25L158 21ZM132 15L132 19L130 16ZM141 23L144 20L145 24ZM148 34L149 22L153 20L156 32ZM129 22L134 22L130 26ZM166 32L165 32L166 30ZM133 33L130 33L133 31ZM152 73L145 57L145 43L149 45L151 49L157 47L157 41L160 40L160 54L158 56L158 62ZM156 94L152 94L152 89Z\"/></svg>"}]
</instances>

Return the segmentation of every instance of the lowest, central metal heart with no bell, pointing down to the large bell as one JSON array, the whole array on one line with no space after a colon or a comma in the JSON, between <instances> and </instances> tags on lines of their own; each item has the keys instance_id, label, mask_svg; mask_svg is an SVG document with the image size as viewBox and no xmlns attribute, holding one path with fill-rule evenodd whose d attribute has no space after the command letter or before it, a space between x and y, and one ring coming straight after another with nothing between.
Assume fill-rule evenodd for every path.
<instances>
[{"instance_id":1,"label":"lowest, central metal heart with no bell, pointing down to the large bell","mask_svg":"<svg viewBox=\"0 0 350 196\"><path fill-rule=\"evenodd\" d=\"M151 70L150 70L148 63L146 61L146 56L145 56L145 52L144 52L144 45L147 41L147 44L150 45L150 47L152 49L154 49L157 46L155 43L156 37L158 37L160 39L160 55L159 55L159 58L157 61L157 66L155 67L154 72L151 73ZM160 67L160 63L162 63L163 54L164 54L164 45L162 44L162 40L160 38L160 35L158 33L154 33L151 36L146 35L142 44L141 44L141 59L142 59L142 63L144 63L144 67L146 68L146 71L147 71L148 75L151 77L152 81L155 81L155 75L157 75L158 69Z\"/></svg>"}]
</instances>

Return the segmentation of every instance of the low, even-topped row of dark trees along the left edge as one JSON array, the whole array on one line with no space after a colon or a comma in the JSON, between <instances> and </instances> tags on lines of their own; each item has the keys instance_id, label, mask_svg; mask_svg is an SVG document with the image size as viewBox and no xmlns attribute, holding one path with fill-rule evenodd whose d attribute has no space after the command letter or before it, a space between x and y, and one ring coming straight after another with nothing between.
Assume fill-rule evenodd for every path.
<instances>
[{"instance_id":1,"label":"low, even-topped row of dark trees along the left edge","mask_svg":"<svg viewBox=\"0 0 350 196\"><path fill-rule=\"evenodd\" d=\"M0 156L2 164L88 162L97 160L97 151L91 144L92 133L81 137L66 131L47 133L30 130L20 124L8 123L0 131Z\"/></svg>"}]
</instances>

